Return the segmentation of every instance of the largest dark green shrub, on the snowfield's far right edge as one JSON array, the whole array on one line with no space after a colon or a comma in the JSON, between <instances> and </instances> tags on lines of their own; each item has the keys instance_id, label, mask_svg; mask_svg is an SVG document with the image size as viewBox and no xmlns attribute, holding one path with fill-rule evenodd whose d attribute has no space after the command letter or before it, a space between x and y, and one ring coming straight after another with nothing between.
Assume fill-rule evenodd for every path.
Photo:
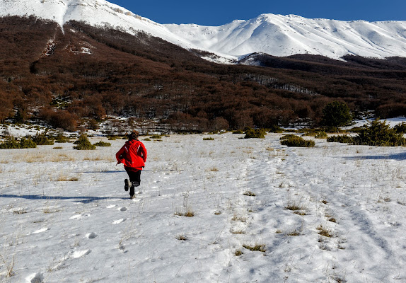
<instances>
[{"instance_id":1,"label":"largest dark green shrub, on the snowfield's far right edge","mask_svg":"<svg viewBox=\"0 0 406 283\"><path fill-rule=\"evenodd\" d=\"M406 139L390 128L386 122L375 120L369 126L364 126L354 137L354 144L369 146L404 146Z\"/></svg>"}]
</instances>

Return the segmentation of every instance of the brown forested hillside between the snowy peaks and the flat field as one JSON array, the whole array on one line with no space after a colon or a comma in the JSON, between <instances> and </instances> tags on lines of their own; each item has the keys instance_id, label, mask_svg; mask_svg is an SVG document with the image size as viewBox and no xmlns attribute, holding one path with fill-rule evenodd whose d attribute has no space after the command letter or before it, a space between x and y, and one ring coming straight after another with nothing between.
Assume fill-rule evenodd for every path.
<instances>
[{"instance_id":1,"label":"brown forested hillside between the snowy peaks and the flat field","mask_svg":"<svg viewBox=\"0 0 406 283\"><path fill-rule=\"evenodd\" d=\"M406 59L253 54L207 62L145 33L34 17L0 18L0 120L74 130L107 116L211 130L320 121L332 100L380 117L406 113ZM259 64L250 66L247 64Z\"/></svg>"}]
</instances>

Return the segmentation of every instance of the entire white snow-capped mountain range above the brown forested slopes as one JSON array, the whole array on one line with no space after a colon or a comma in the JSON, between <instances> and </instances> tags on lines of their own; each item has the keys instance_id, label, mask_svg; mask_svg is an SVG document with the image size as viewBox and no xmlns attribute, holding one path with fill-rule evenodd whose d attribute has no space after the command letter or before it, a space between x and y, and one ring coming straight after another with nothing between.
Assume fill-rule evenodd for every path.
<instances>
[{"instance_id":1,"label":"entire white snow-capped mountain range above the brown forested slopes","mask_svg":"<svg viewBox=\"0 0 406 283\"><path fill-rule=\"evenodd\" d=\"M161 25L105 0L1 0L0 16L35 15L63 26L70 20L111 25L134 33L142 30L186 49L214 52L228 58L253 52L274 56L320 54L338 59L406 57L406 21L334 21L262 14L248 21L218 27Z\"/></svg>"}]
</instances>

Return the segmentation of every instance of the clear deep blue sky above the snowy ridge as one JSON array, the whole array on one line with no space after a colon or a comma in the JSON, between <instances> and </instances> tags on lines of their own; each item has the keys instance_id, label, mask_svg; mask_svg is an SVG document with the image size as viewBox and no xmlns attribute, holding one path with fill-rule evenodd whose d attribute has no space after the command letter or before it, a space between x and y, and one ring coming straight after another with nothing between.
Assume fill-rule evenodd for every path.
<instances>
[{"instance_id":1,"label":"clear deep blue sky above the snowy ridge","mask_svg":"<svg viewBox=\"0 0 406 283\"><path fill-rule=\"evenodd\" d=\"M406 0L108 1L157 23L223 25L255 18L261 13L340 21L406 21Z\"/></svg>"}]
</instances>

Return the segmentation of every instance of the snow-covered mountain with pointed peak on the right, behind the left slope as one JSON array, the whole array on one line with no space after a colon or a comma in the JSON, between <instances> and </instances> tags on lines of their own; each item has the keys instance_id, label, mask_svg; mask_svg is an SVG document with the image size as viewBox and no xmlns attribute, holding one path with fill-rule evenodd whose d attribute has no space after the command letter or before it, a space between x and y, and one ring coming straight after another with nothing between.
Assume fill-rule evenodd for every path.
<instances>
[{"instance_id":1,"label":"snow-covered mountain with pointed peak on the right, behind the left slope","mask_svg":"<svg viewBox=\"0 0 406 283\"><path fill-rule=\"evenodd\" d=\"M194 45L238 57L253 52L274 56L308 53L330 58L346 54L406 57L406 21L344 22L262 14L219 27L166 27Z\"/></svg>"}]
</instances>

